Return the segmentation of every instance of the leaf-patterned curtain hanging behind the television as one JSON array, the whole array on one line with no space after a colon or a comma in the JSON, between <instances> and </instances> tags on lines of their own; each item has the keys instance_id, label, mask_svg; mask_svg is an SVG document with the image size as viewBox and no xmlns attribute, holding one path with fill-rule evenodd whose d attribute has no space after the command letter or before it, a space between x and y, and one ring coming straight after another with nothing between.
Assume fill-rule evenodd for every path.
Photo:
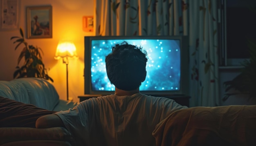
<instances>
[{"instance_id":1,"label":"leaf-patterned curtain hanging behind the television","mask_svg":"<svg viewBox=\"0 0 256 146\"><path fill-rule=\"evenodd\" d=\"M94 0L95 35L188 35L190 106L218 106L216 0Z\"/></svg>"}]
</instances>

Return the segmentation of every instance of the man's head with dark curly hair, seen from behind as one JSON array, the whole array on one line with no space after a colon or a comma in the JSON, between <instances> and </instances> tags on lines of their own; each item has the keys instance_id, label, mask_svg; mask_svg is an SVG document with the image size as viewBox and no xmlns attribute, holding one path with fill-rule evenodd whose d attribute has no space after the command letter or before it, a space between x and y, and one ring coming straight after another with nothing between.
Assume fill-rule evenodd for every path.
<instances>
[{"instance_id":1,"label":"man's head with dark curly hair, seen from behind","mask_svg":"<svg viewBox=\"0 0 256 146\"><path fill-rule=\"evenodd\" d=\"M137 89L146 78L146 56L139 46L127 42L116 44L105 60L108 79L118 89Z\"/></svg>"}]
</instances>

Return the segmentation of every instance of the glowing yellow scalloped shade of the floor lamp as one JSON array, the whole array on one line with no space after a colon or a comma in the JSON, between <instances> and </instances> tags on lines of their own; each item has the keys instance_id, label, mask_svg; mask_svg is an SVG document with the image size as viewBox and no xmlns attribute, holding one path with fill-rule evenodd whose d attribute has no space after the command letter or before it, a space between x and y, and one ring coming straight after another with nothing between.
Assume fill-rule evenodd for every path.
<instances>
[{"instance_id":1,"label":"glowing yellow scalloped shade of the floor lamp","mask_svg":"<svg viewBox=\"0 0 256 146\"><path fill-rule=\"evenodd\" d=\"M58 43L54 58L59 59L65 57L77 57L76 46L72 41L60 41Z\"/></svg>"}]
</instances>

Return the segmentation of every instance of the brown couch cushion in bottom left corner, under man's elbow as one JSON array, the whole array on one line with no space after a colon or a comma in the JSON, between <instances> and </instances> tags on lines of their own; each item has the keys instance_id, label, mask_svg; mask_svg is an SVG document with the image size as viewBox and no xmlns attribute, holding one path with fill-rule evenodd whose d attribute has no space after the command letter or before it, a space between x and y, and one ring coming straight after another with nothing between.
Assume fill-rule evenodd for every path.
<instances>
[{"instance_id":1,"label":"brown couch cushion in bottom left corner, under man's elbow","mask_svg":"<svg viewBox=\"0 0 256 146\"><path fill-rule=\"evenodd\" d=\"M34 146L36 142L40 141L46 142L45 146L63 146L62 144L64 144L65 146L66 144L76 146L76 142L74 141L74 138L72 137L70 132L68 132L67 129L63 127L42 129L25 127L4 127L0 128L0 137L0 145L6 144L7 146L25 146L25 142L27 142L27 146ZM40 146L42 146L42 143L40 144Z\"/></svg>"}]
</instances>

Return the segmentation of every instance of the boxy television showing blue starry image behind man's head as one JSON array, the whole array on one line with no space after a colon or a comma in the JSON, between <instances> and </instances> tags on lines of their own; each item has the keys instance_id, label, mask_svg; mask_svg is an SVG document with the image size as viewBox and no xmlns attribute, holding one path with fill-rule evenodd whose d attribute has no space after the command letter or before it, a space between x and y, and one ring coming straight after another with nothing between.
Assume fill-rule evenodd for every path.
<instances>
[{"instance_id":1,"label":"boxy television showing blue starry image behind man's head","mask_svg":"<svg viewBox=\"0 0 256 146\"><path fill-rule=\"evenodd\" d=\"M148 53L142 94L187 95L189 92L189 42L187 36L85 36L84 93L110 95L115 86L106 73L105 58L121 42L141 46Z\"/></svg>"}]
</instances>

